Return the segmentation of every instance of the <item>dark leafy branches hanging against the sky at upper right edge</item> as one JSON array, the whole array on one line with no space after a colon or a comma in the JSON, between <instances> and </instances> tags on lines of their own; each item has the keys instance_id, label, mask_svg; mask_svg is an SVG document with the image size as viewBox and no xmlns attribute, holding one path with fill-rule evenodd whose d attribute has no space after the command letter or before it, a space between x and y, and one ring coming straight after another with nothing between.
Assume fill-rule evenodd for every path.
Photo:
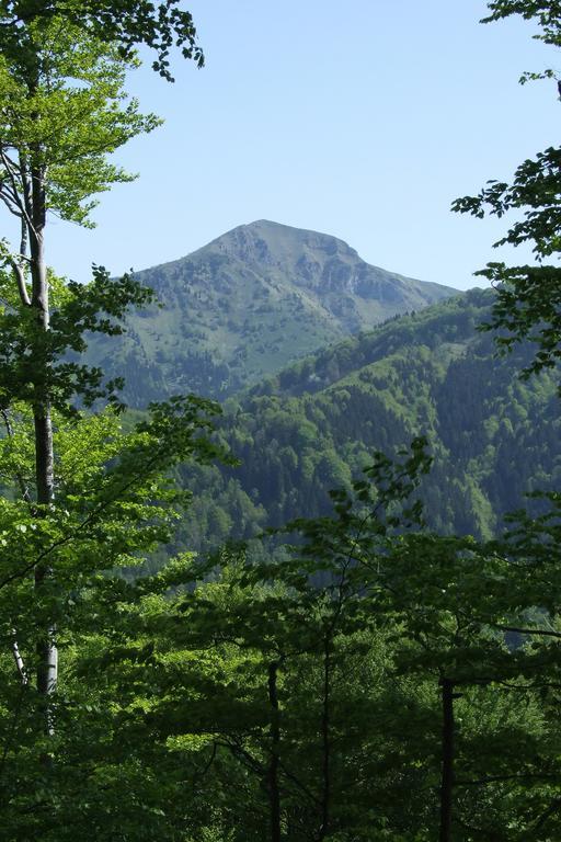
<instances>
[{"instance_id":1,"label":"dark leafy branches hanging against the sky at upper right edge","mask_svg":"<svg viewBox=\"0 0 561 842\"><path fill-rule=\"evenodd\" d=\"M491 14L483 22L497 21L513 14L538 22L535 37L546 44L561 46L561 8L547 0L495 0ZM553 70L525 73L529 79L552 78ZM561 357L561 269L545 261L561 251L561 190L559 171L561 148L549 147L517 168L511 183L489 181L477 196L456 200L453 209L482 218L485 213L502 217L514 212L516 221L495 246L529 244L536 265L506 266L504 262L489 263L477 274L489 278L496 289L496 299L486 330L501 330L495 341L510 351L514 343L530 339L536 343L531 363L524 376L553 367Z\"/></svg>"}]
</instances>

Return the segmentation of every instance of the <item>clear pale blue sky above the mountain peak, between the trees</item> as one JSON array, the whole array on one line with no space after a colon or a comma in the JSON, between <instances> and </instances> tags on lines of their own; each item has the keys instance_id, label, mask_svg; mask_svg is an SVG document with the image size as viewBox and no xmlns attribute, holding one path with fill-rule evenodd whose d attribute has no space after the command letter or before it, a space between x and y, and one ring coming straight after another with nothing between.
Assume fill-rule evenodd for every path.
<instances>
[{"instance_id":1,"label":"clear pale blue sky above the mountain peak, between the trees","mask_svg":"<svg viewBox=\"0 0 561 842\"><path fill-rule=\"evenodd\" d=\"M254 219L346 240L368 262L468 288L504 228L449 212L557 141L556 56L483 0L193 0L206 67L130 79L165 120L119 161L98 228L53 220L49 262L77 280L183 257ZM526 259L527 255L520 255ZM481 282L479 282L481 283Z\"/></svg>"}]
</instances>

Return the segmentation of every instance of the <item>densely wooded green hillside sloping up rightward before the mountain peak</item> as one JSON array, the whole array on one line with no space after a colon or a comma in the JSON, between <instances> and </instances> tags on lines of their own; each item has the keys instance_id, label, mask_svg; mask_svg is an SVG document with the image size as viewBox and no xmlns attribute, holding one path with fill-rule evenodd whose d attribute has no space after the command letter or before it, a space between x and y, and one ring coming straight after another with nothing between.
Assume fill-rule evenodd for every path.
<instances>
[{"instance_id":1,"label":"densely wooded green hillside sloping up rightward before the mountain peak","mask_svg":"<svg viewBox=\"0 0 561 842\"><path fill-rule=\"evenodd\" d=\"M329 508L376 450L427 435L428 523L491 535L525 492L561 479L556 379L522 382L529 349L497 360L476 331L491 292L471 291L348 339L226 403L234 469L185 475L194 503L181 542L208 546Z\"/></svg>"}]
</instances>

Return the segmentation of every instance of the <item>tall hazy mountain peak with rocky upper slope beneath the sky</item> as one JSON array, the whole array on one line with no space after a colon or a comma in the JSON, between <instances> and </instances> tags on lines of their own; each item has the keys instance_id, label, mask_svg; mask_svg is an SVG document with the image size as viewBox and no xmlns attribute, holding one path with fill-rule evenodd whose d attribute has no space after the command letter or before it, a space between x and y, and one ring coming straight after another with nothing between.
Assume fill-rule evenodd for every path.
<instances>
[{"instance_id":1,"label":"tall hazy mountain peak with rocky upper slope beneath the sky","mask_svg":"<svg viewBox=\"0 0 561 842\"><path fill-rule=\"evenodd\" d=\"M260 220L186 258L136 273L160 306L134 312L90 361L125 377L125 398L226 397L397 314L457 295L369 265L342 240Z\"/></svg>"}]
</instances>

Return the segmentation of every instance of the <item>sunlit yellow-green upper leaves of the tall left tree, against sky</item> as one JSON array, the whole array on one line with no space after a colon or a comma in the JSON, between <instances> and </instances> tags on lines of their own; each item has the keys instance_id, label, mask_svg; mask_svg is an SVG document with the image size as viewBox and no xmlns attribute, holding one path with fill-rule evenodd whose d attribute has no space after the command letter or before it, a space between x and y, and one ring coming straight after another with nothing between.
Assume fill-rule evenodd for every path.
<instances>
[{"instance_id":1,"label":"sunlit yellow-green upper leaves of the tall left tree, against sky","mask_svg":"<svg viewBox=\"0 0 561 842\"><path fill-rule=\"evenodd\" d=\"M127 64L111 43L92 39L61 19L28 24L27 36L38 62L35 70L26 61L21 66L21 56L0 54L2 191L9 206L21 213L13 180L24 182L38 169L47 210L91 225L91 196L131 179L107 156L160 121L141 115L136 100L127 99Z\"/></svg>"}]
</instances>

